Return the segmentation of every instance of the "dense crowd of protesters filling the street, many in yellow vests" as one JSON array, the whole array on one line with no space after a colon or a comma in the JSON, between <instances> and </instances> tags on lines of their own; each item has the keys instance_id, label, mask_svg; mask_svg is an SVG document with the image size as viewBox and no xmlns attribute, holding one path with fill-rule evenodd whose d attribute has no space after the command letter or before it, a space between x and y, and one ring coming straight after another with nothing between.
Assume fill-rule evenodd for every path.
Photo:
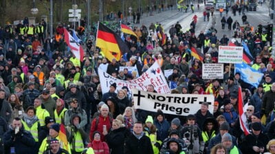
<instances>
[{"instance_id":1,"label":"dense crowd of protesters filling the street, many in yellow vests","mask_svg":"<svg viewBox=\"0 0 275 154\"><path fill-rule=\"evenodd\" d=\"M221 23L228 18L221 15ZM228 27L234 31L230 37L248 45L252 68L264 73L254 88L229 64L223 79L202 79L202 64L217 63L219 45L228 45L229 38L217 38L215 24L196 36L196 24L197 16L188 31L175 23L166 36L157 35L164 32L161 23L134 27L137 38L124 35L130 51L119 61L102 57L92 40L84 44L84 60L78 60L67 50L63 34L69 27L63 24L53 38L46 38L45 21L34 26L27 17L0 29L0 153L275 153L275 64L263 25ZM82 23L80 35L84 28ZM191 47L203 52L203 61L192 57ZM120 66L136 66L142 75L155 62L163 71L173 70L167 77L171 93L213 94L214 111L208 103L185 117L135 110L129 88L118 90L113 83L102 92L98 68L131 80L137 73ZM147 91L156 92L153 85ZM241 129L241 98L247 104L249 134ZM62 139L61 125L69 144Z\"/></svg>"}]
</instances>

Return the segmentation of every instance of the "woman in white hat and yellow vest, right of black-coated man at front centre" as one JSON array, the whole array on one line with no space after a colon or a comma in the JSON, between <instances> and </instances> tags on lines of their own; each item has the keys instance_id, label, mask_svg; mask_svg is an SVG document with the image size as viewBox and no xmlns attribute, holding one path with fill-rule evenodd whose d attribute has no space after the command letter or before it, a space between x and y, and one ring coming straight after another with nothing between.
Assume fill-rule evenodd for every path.
<instances>
[{"instance_id":1,"label":"woman in white hat and yellow vest, right of black-coated man at front centre","mask_svg":"<svg viewBox=\"0 0 275 154\"><path fill-rule=\"evenodd\" d=\"M162 145L162 141L159 140L160 136L157 136L157 128L155 127L155 125L153 125L153 117L152 116L147 116L143 129L144 129L146 136L148 136L151 140L154 154L158 154L159 149Z\"/></svg>"}]
</instances>

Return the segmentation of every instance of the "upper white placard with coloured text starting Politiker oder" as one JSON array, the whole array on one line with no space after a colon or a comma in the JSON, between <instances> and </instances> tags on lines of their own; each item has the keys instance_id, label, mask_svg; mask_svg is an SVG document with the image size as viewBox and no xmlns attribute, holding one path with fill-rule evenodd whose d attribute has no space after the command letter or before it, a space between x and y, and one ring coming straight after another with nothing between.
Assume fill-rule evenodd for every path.
<instances>
[{"instance_id":1,"label":"upper white placard with coloured text starting Politiker oder","mask_svg":"<svg viewBox=\"0 0 275 154\"><path fill-rule=\"evenodd\" d=\"M219 63L243 63L243 47L219 46Z\"/></svg>"}]
</instances>

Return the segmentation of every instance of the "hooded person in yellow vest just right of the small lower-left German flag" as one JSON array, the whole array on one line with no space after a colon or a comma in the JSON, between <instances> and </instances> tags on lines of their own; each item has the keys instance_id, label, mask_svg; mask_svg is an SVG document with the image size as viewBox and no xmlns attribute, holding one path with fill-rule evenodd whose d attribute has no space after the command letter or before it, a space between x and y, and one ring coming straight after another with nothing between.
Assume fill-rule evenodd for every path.
<instances>
[{"instance_id":1,"label":"hooded person in yellow vest just right of the small lower-left German flag","mask_svg":"<svg viewBox=\"0 0 275 154\"><path fill-rule=\"evenodd\" d=\"M83 130L83 127L80 127L81 117L78 114L72 115L71 126L67 126L68 142L71 147L72 153L80 154L85 149L85 140L88 136L87 133Z\"/></svg>"}]
</instances>

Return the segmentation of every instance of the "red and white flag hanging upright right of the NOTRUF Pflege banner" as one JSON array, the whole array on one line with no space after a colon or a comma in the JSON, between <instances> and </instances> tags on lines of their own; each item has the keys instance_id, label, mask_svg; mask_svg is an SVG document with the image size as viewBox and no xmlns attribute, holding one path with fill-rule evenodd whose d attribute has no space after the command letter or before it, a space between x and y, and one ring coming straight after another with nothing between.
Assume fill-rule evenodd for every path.
<instances>
[{"instance_id":1,"label":"red and white flag hanging upright right of the NOTRUF Pflege banner","mask_svg":"<svg viewBox=\"0 0 275 154\"><path fill-rule=\"evenodd\" d=\"M250 134L250 131L248 129L248 117L245 115L245 111L248 108L248 103L243 106L243 96L241 95L241 87L239 87L239 101L238 101L238 107L239 107L239 120L241 125L241 130L245 133L245 136Z\"/></svg>"}]
</instances>

